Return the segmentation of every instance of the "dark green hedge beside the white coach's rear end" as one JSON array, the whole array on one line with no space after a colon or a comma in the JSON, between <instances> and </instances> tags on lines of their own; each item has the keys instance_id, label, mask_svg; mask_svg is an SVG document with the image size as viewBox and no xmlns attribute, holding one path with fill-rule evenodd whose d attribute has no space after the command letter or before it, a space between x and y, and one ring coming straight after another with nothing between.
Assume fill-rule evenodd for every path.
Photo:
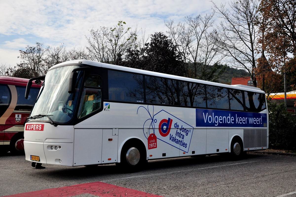
<instances>
[{"instance_id":1,"label":"dark green hedge beside the white coach's rear end","mask_svg":"<svg viewBox=\"0 0 296 197\"><path fill-rule=\"evenodd\" d=\"M269 148L296 150L296 116L287 112L284 103L268 101Z\"/></svg>"}]
</instances>

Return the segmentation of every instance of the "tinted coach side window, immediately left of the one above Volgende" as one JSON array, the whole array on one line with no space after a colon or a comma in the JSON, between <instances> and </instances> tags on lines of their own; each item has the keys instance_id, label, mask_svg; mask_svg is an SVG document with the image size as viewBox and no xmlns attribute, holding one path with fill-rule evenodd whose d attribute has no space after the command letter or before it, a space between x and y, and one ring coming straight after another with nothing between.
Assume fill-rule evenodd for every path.
<instances>
[{"instance_id":1,"label":"tinted coach side window, immediately left of the one above Volgende","mask_svg":"<svg viewBox=\"0 0 296 197\"><path fill-rule=\"evenodd\" d=\"M206 107L205 86L191 82L179 82L181 106Z\"/></svg>"}]
</instances>

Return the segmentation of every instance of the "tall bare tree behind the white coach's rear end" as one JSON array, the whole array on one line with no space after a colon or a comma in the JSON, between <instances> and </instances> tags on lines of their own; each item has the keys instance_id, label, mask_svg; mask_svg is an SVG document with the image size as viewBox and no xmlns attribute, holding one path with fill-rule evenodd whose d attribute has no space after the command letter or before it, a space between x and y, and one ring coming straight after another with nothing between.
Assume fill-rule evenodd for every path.
<instances>
[{"instance_id":1,"label":"tall bare tree behind the white coach's rear end","mask_svg":"<svg viewBox=\"0 0 296 197\"><path fill-rule=\"evenodd\" d=\"M255 19L258 16L258 0L232 0L230 9L225 4L216 5L215 12L222 19L218 26L220 36L217 37L224 55L228 57L229 63L237 68L246 69L253 84L256 87L256 45L258 39L258 27Z\"/></svg>"}]
</instances>

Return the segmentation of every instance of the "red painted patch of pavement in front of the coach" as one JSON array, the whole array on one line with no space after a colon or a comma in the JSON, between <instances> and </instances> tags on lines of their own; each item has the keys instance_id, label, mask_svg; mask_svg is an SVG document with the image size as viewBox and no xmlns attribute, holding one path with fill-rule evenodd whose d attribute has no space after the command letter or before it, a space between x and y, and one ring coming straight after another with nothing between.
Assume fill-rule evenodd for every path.
<instances>
[{"instance_id":1,"label":"red painted patch of pavement in front of the coach","mask_svg":"<svg viewBox=\"0 0 296 197\"><path fill-rule=\"evenodd\" d=\"M81 194L91 194L100 197L162 197L155 194L141 192L129 188L123 188L103 182L84 183L79 185L65 186L61 188L52 188L27 193L10 195L9 197L66 197L77 196Z\"/></svg>"}]
</instances>

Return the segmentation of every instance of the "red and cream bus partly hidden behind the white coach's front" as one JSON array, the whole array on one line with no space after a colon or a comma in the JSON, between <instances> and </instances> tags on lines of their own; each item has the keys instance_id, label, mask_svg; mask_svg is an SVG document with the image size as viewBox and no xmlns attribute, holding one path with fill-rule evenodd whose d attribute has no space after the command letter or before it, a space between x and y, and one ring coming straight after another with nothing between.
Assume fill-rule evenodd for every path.
<instances>
[{"instance_id":1,"label":"red and cream bus partly hidden behind the white coach's front","mask_svg":"<svg viewBox=\"0 0 296 197\"><path fill-rule=\"evenodd\" d=\"M29 117L41 85L32 84L25 99L28 79L0 77L0 151L24 154L24 122Z\"/></svg>"}]
</instances>

